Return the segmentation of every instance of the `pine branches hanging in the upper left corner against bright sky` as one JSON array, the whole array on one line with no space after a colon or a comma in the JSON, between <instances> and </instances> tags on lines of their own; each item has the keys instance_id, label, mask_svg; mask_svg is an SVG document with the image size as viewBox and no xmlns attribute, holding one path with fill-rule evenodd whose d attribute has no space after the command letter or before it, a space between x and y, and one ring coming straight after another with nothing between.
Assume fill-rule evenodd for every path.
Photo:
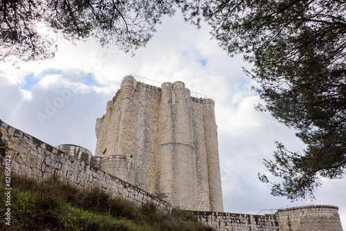
<instances>
[{"instance_id":1,"label":"pine branches hanging in the upper left corner against bright sky","mask_svg":"<svg viewBox=\"0 0 346 231\"><path fill-rule=\"evenodd\" d=\"M0 60L51 58L57 49L54 33L133 52L145 46L162 16L173 12L170 0L3 0Z\"/></svg>"}]
</instances>

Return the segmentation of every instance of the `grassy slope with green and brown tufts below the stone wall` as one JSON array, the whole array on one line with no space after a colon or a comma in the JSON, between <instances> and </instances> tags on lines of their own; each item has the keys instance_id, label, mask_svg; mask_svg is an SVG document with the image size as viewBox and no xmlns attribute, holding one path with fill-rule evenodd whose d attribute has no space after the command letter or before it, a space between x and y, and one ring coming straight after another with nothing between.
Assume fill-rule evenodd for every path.
<instances>
[{"instance_id":1,"label":"grassy slope with green and brown tufts below the stone wall","mask_svg":"<svg viewBox=\"0 0 346 231\"><path fill-rule=\"evenodd\" d=\"M0 230L212 230L190 212L170 214L153 203L136 206L102 190L78 190L51 178L39 183L11 176L11 226L6 225L6 185L0 177Z\"/></svg>"}]
</instances>

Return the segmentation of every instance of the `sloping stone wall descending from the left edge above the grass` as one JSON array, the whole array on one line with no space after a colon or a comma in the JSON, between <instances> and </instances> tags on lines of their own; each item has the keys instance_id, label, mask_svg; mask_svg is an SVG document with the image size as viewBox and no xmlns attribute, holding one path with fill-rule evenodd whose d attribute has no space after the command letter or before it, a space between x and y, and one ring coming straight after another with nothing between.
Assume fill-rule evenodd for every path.
<instances>
[{"instance_id":1,"label":"sloping stone wall descending from the left edge above the grass","mask_svg":"<svg viewBox=\"0 0 346 231\"><path fill-rule=\"evenodd\" d=\"M80 188L98 187L113 197L127 198L138 205L153 202L161 210L171 210L169 203L96 168L94 163L98 165L100 158L92 156L78 158L1 120L0 144L1 168L5 166L5 156L10 156L12 172L17 174L36 178L39 181L57 176L62 181Z\"/></svg>"}]
</instances>

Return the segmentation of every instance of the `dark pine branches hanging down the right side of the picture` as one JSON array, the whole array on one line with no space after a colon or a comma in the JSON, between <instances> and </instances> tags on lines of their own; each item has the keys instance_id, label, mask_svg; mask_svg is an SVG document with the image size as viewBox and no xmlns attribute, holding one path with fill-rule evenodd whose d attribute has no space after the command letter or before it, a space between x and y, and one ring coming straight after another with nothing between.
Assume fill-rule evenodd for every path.
<instances>
[{"instance_id":1,"label":"dark pine branches hanging down the right side of the picture","mask_svg":"<svg viewBox=\"0 0 346 231\"><path fill-rule=\"evenodd\" d=\"M346 168L346 1L180 1L185 19L206 19L230 55L243 53L247 71L266 102L257 105L296 129L303 154L277 143L273 162L264 160L282 183L272 194L313 197L320 177L340 178Z\"/></svg>"}]
</instances>

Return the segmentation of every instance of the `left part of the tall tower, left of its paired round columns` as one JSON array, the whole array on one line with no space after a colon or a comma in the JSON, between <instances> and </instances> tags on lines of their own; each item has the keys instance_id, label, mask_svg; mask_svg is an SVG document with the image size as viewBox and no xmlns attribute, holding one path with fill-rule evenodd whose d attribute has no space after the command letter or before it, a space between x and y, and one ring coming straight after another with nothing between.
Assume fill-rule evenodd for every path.
<instances>
[{"instance_id":1,"label":"left part of the tall tower, left of its paired round columns","mask_svg":"<svg viewBox=\"0 0 346 231\"><path fill-rule=\"evenodd\" d=\"M106 114L95 126L95 156L132 156L136 160L134 185L156 193L156 158L158 104L161 89L125 78L113 100L107 102ZM107 160L104 160L107 162ZM107 167L107 165L104 165ZM114 173L111 165L103 168ZM126 179L133 176L116 175Z\"/></svg>"}]
</instances>

